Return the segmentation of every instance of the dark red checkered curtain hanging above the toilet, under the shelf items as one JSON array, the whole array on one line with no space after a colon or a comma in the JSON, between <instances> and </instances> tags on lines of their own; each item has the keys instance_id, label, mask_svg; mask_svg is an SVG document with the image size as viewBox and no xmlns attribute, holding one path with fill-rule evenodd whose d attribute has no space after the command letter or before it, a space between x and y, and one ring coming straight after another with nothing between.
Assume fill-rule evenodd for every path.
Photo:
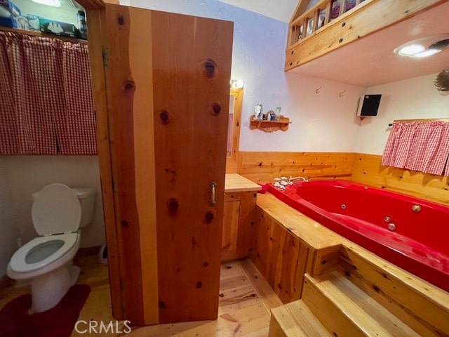
<instances>
[{"instance_id":1,"label":"dark red checkered curtain hanging above the toilet, under the shelf items","mask_svg":"<svg viewBox=\"0 0 449 337\"><path fill-rule=\"evenodd\" d=\"M0 32L0 153L96 154L88 47Z\"/></svg>"}]
</instances>

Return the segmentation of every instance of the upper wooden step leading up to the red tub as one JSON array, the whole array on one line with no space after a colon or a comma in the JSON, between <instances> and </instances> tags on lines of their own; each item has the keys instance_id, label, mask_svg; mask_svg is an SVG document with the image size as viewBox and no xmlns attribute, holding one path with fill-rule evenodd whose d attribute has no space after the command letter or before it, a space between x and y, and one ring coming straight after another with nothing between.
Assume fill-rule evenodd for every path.
<instances>
[{"instance_id":1,"label":"upper wooden step leading up to the red tub","mask_svg":"<svg viewBox=\"0 0 449 337\"><path fill-rule=\"evenodd\" d=\"M302 300L334 336L420 336L337 270L304 275Z\"/></svg>"}]
</instances>

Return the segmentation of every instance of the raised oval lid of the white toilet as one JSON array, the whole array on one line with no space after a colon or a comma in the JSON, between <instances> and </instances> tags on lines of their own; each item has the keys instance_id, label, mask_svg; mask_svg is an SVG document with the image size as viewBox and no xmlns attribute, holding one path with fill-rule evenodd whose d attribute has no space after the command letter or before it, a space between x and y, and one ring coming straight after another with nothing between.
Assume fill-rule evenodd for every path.
<instances>
[{"instance_id":1,"label":"raised oval lid of the white toilet","mask_svg":"<svg viewBox=\"0 0 449 337\"><path fill-rule=\"evenodd\" d=\"M37 194L31 214L39 235L76 232L81 220L81 204L70 187L50 184Z\"/></svg>"}]
</instances>

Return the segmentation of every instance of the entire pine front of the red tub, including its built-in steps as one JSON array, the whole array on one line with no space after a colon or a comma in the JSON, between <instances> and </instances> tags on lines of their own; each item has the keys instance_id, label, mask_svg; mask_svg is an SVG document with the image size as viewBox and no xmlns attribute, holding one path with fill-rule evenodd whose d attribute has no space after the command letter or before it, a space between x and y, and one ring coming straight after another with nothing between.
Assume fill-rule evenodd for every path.
<instances>
[{"instance_id":1,"label":"entire pine front of the red tub, including its built-in steps","mask_svg":"<svg viewBox=\"0 0 449 337\"><path fill-rule=\"evenodd\" d=\"M449 336L449 293L257 197L251 256L279 298L269 336Z\"/></svg>"}]
</instances>

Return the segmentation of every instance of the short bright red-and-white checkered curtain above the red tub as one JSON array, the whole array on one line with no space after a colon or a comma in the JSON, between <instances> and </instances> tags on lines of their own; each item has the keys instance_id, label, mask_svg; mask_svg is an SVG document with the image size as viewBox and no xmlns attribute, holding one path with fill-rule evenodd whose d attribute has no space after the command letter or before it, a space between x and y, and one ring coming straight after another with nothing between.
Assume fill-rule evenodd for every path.
<instances>
[{"instance_id":1,"label":"short bright red-and-white checkered curtain above the red tub","mask_svg":"<svg viewBox=\"0 0 449 337\"><path fill-rule=\"evenodd\" d=\"M382 156L382 165L449 176L448 155L448 122L395 122Z\"/></svg>"}]
</instances>

